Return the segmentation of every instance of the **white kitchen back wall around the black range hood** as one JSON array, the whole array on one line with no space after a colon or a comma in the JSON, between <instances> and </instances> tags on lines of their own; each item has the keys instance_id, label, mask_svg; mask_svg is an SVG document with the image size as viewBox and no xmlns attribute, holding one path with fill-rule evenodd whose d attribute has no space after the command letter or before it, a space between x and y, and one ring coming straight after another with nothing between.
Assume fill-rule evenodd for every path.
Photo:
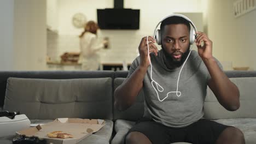
<instances>
[{"instance_id":1,"label":"white kitchen back wall around the black range hood","mask_svg":"<svg viewBox=\"0 0 256 144\"><path fill-rule=\"evenodd\" d=\"M96 9L113 8L114 0L107 1L80 1L59 0L58 5L58 32L60 40L57 53L59 57L66 51L79 51L79 38L83 28L72 26L72 16L83 13L87 20L97 20ZM102 62L132 62L137 56L137 47L141 38L153 35L155 26L165 16L172 13L202 12L201 0L129 0L124 1L124 8L140 9L139 30L101 30L100 38L109 37L110 49L101 52ZM56 40L55 40L56 41Z\"/></svg>"}]
</instances>

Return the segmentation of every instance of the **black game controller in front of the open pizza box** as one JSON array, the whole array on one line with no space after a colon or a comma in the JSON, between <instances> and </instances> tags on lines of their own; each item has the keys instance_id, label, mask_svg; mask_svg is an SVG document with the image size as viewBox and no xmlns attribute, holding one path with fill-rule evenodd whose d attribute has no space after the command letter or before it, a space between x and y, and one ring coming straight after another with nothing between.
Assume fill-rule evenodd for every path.
<instances>
[{"instance_id":1,"label":"black game controller in front of the open pizza box","mask_svg":"<svg viewBox=\"0 0 256 144\"><path fill-rule=\"evenodd\" d=\"M13 144L46 144L46 140L39 139L37 136L28 137L26 135L20 135L13 139Z\"/></svg>"}]
</instances>

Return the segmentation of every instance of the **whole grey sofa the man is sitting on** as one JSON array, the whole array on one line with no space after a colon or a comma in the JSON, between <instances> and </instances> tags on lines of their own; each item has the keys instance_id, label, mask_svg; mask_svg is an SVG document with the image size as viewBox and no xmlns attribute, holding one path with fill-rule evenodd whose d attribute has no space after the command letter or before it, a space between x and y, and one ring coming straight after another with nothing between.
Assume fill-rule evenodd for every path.
<instances>
[{"instance_id":1,"label":"whole grey sofa the man is sitting on","mask_svg":"<svg viewBox=\"0 0 256 144\"><path fill-rule=\"evenodd\" d=\"M240 109L225 110L208 89L205 118L233 125L243 131L246 143L256 143L256 71L225 73L240 89ZM144 112L143 92L126 111L113 106L114 89L126 76L127 71L0 71L0 109L20 111L31 123L59 117L105 119L101 130L79 143L122 143ZM11 143L13 137L0 137L0 143Z\"/></svg>"}]
</instances>

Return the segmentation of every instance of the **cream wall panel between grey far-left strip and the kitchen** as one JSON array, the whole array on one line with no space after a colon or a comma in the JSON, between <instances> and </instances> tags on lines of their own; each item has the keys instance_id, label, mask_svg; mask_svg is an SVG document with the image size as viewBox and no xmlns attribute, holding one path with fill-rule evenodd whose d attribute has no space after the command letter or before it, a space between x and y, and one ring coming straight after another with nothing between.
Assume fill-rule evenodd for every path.
<instances>
[{"instance_id":1,"label":"cream wall panel between grey far-left strip and the kitchen","mask_svg":"<svg viewBox=\"0 0 256 144\"><path fill-rule=\"evenodd\" d=\"M14 68L46 69L46 1L14 1Z\"/></svg>"}]
</instances>

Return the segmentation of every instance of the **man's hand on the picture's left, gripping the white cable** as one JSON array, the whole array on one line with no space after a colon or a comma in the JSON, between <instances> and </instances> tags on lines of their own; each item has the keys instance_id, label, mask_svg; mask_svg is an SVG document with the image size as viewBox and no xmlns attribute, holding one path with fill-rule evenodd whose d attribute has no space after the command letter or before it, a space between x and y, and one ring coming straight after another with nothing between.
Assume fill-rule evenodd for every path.
<instances>
[{"instance_id":1,"label":"man's hand on the picture's left, gripping the white cable","mask_svg":"<svg viewBox=\"0 0 256 144\"><path fill-rule=\"evenodd\" d=\"M155 40L153 37L148 36L148 41L147 37L143 37L141 39L141 43L139 44L138 51L139 51L139 56L141 58L141 62L139 63L140 67L148 68L149 66L149 59L148 58L148 47L149 47L149 53L154 52L155 56L158 55L158 47L154 44Z\"/></svg>"}]
</instances>

